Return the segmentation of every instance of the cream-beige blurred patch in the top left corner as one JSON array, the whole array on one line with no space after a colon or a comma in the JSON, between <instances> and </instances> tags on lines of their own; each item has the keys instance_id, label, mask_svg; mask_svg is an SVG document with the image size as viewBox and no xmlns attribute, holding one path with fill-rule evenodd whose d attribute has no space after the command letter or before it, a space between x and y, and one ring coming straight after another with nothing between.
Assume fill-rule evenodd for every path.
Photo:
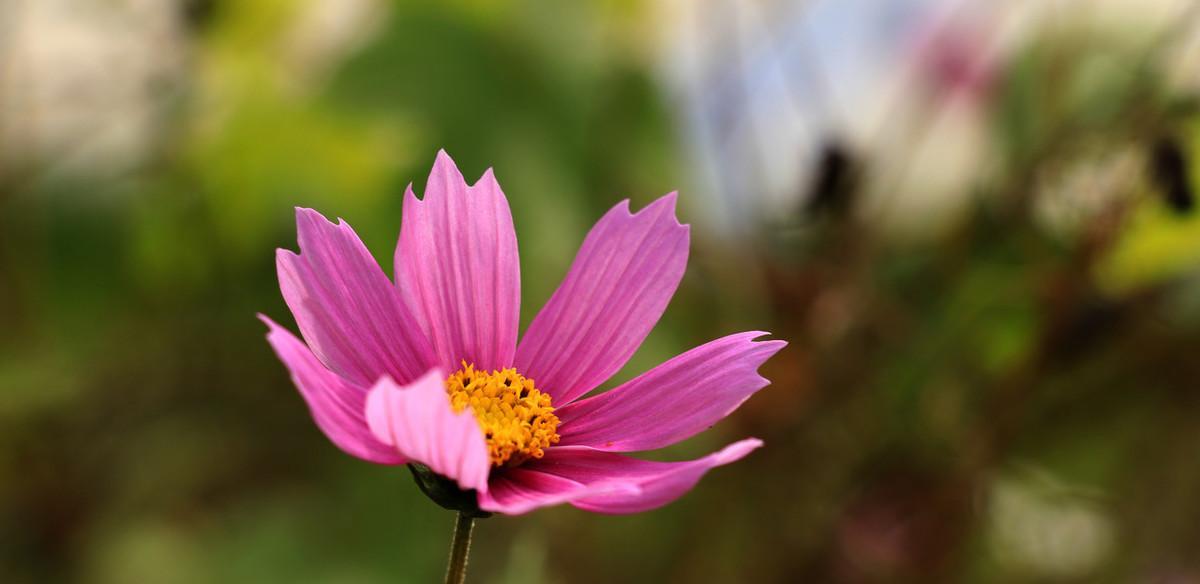
<instances>
[{"instance_id":1,"label":"cream-beige blurred patch in the top left corner","mask_svg":"<svg viewBox=\"0 0 1200 584\"><path fill-rule=\"evenodd\" d=\"M0 179L142 163L184 62L180 12L164 0L6 0Z\"/></svg>"}]
</instances>

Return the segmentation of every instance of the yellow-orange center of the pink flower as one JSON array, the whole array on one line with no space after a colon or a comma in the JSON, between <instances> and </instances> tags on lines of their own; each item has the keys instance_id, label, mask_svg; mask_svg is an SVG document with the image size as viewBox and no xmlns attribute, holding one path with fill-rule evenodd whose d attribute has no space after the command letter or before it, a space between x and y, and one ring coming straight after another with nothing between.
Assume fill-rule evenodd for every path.
<instances>
[{"instance_id":1,"label":"yellow-orange center of the pink flower","mask_svg":"<svg viewBox=\"0 0 1200 584\"><path fill-rule=\"evenodd\" d=\"M462 369L446 379L446 393L455 411L470 405L497 466L541 458L544 448L558 442L558 416L550 396L516 369L487 373L463 361Z\"/></svg>"}]
</instances>

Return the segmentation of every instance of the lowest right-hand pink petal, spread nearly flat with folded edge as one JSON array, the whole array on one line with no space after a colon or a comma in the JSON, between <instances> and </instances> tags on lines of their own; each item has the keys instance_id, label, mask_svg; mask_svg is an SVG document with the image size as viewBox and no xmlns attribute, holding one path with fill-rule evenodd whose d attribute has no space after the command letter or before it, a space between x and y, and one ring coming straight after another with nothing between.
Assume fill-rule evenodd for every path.
<instances>
[{"instance_id":1,"label":"lowest right-hand pink petal, spread nearly flat with folded edge","mask_svg":"<svg viewBox=\"0 0 1200 584\"><path fill-rule=\"evenodd\" d=\"M679 463L638 460L582 446L565 446L552 448L545 458L522 468L581 484L623 482L636 486L636 493L608 489L600 494L586 493L569 502L598 513L637 513L661 507L683 496L709 469L739 460L760 446L762 440L749 438L704 458Z\"/></svg>"}]
</instances>

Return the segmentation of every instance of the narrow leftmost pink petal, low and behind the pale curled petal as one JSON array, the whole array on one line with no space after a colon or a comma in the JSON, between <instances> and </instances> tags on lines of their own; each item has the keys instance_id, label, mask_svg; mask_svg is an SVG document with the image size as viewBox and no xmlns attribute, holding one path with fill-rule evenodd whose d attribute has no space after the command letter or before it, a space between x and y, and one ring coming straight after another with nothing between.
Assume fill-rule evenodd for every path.
<instances>
[{"instance_id":1,"label":"narrow leftmost pink petal, low and behind the pale curled petal","mask_svg":"<svg viewBox=\"0 0 1200 584\"><path fill-rule=\"evenodd\" d=\"M292 373L317 427L347 454L379 464L404 464L404 457L379 444L367 429L362 410L366 389L326 369L295 335L262 314L258 318L270 329L266 341Z\"/></svg>"}]
</instances>

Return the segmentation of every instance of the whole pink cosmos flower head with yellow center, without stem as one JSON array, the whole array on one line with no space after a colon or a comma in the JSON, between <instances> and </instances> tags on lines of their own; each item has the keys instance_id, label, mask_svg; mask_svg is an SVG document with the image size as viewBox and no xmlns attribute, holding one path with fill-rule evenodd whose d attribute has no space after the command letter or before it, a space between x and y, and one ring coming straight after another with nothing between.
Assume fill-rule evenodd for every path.
<instances>
[{"instance_id":1,"label":"whole pink cosmos flower head with yellow center, without stem","mask_svg":"<svg viewBox=\"0 0 1200 584\"><path fill-rule=\"evenodd\" d=\"M786 344L731 335L581 399L625 365L683 277L689 228L674 201L610 210L517 343L508 200L491 170L467 185L439 152L425 198L404 194L395 283L349 225L296 211L301 253L280 249L276 265L305 342L262 317L268 341L335 445L413 463L419 483L452 484L475 511L659 507L762 441L677 463L622 452L713 426L768 385L757 368Z\"/></svg>"}]
</instances>

